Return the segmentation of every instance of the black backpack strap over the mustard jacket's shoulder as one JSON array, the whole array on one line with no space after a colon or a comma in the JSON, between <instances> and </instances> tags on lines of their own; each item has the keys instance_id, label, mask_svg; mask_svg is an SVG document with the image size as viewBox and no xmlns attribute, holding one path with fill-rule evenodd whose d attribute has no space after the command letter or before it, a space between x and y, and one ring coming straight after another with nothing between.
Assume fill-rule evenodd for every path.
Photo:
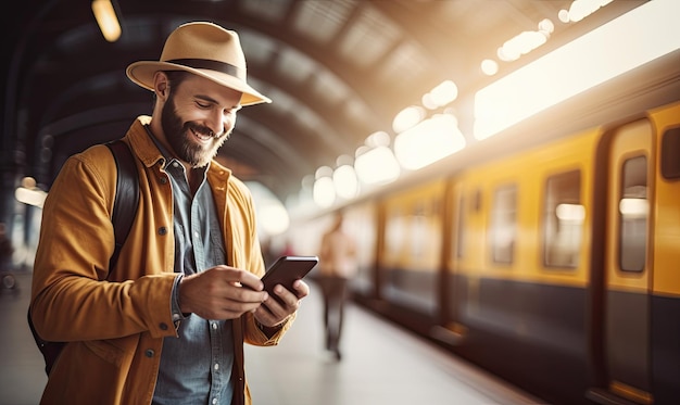
<instances>
[{"instance_id":1,"label":"black backpack strap over the mustard jacket's shoulder","mask_svg":"<svg viewBox=\"0 0 680 405\"><path fill-rule=\"evenodd\" d=\"M127 143L117 139L106 143L106 147L111 150L118 169L116 197L111 217L116 240L115 250L109 261L109 271L112 271L127 235L133 227L133 220L139 205L139 175L135 164L135 156Z\"/></svg>"}]
</instances>

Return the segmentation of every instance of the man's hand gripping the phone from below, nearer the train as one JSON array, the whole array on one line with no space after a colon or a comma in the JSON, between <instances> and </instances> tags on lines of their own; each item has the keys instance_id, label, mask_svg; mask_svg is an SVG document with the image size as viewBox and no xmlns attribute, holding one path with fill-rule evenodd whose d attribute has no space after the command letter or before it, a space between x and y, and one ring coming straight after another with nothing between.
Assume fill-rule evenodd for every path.
<instances>
[{"instance_id":1,"label":"man's hand gripping the phone from below, nearer the train","mask_svg":"<svg viewBox=\"0 0 680 405\"><path fill-rule=\"evenodd\" d=\"M282 324L288 317L300 307L302 299L310 294L310 287L302 280L293 282L293 290L289 291L284 286L274 287L277 298L265 298L263 305L254 312L255 319L269 328L275 328Z\"/></svg>"}]
</instances>

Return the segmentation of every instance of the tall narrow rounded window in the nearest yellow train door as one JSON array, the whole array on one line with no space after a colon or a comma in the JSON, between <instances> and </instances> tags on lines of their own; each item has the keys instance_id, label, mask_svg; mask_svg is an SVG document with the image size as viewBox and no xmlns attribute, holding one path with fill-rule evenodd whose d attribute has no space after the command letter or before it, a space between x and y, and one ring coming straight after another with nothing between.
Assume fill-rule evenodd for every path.
<instances>
[{"instance_id":1,"label":"tall narrow rounded window in the nearest yellow train door","mask_svg":"<svg viewBox=\"0 0 680 405\"><path fill-rule=\"evenodd\" d=\"M646 260L647 159L624 162L619 199L619 263L624 271L642 271Z\"/></svg>"}]
</instances>

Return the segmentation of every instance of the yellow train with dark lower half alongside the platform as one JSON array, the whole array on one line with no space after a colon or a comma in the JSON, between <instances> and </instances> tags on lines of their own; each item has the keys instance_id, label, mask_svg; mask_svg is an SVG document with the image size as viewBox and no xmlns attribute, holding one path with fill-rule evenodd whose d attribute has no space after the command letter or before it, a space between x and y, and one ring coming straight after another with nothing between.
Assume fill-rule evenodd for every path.
<instances>
[{"instance_id":1,"label":"yellow train with dark lower half alongside the platform","mask_svg":"<svg viewBox=\"0 0 680 405\"><path fill-rule=\"evenodd\" d=\"M678 403L680 53L469 149L337 207L356 302L551 404Z\"/></svg>"}]
</instances>

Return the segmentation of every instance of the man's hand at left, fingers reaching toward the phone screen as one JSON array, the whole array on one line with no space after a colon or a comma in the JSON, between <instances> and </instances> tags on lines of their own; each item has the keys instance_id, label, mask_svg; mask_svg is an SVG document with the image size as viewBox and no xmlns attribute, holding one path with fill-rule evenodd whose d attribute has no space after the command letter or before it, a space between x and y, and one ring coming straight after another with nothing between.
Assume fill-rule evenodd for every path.
<instances>
[{"instance_id":1,"label":"man's hand at left, fingers reaching toward the phone screen","mask_svg":"<svg viewBox=\"0 0 680 405\"><path fill-rule=\"evenodd\" d=\"M262 281L250 271L215 266L182 277L179 306L182 313L193 313L204 319L235 319L255 311L268 299L263 288Z\"/></svg>"}]
</instances>

